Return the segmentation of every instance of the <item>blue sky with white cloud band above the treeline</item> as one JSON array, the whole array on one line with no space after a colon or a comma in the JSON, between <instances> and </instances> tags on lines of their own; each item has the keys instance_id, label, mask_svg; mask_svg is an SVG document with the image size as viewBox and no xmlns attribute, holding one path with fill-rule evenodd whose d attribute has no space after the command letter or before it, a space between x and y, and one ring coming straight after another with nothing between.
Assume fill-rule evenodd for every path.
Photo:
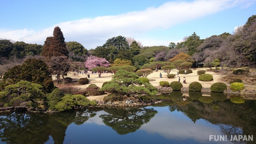
<instances>
[{"instance_id":1,"label":"blue sky with white cloud band above the treeline","mask_svg":"<svg viewBox=\"0 0 256 144\"><path fill-rule=\"evenodd\" d=\"M87 49L122 35L144 46L232 33L256 14L256 0L0 0L0 38L43 44L59 26Z\"/></svg>"}]
</instances>

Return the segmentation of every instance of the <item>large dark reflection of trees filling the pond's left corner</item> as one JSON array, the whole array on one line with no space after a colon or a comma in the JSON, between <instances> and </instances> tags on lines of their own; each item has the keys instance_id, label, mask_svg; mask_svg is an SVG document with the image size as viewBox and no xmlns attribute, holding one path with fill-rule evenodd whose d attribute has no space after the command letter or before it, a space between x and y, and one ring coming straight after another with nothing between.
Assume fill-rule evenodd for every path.
<instances>
[{"instance_id":1,"label":"large dark reflection of trees filling the pond's left corner","mask_svg":"<svg viewBox=\"0 0 256 144\"><path fill-rule=\"evenodd\" d=\"M62 144L67 126L83 124L96 112L89 110L55 114L5 113L0 118L1 141L10 144L43 144L52 136L55 144Z\"/></svg>"}]
</instances>

